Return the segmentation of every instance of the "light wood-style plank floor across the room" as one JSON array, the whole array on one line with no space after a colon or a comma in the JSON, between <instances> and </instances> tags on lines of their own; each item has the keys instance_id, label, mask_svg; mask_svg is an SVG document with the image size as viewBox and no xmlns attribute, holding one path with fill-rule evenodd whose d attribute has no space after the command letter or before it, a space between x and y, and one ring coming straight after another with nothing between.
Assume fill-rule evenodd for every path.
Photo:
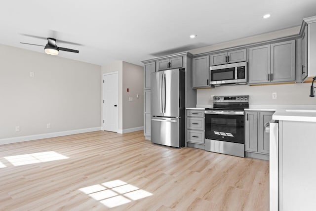
<instances>
[{"instance_id":1,"label":"light wood-style plank floor across the room","mask_svg":"<svg viewBox=\"0 0 316 211\"><path fill-rule=\"evenodd\" d=\"M51 151L68 159L37 157L38 163L22 165L7 158ZM269 162L160 146L145 140L143 131L2 145L0 162L1 211L269 210ZM106 183L115 180L127 189Z\"/></svg>"}]
</instances>

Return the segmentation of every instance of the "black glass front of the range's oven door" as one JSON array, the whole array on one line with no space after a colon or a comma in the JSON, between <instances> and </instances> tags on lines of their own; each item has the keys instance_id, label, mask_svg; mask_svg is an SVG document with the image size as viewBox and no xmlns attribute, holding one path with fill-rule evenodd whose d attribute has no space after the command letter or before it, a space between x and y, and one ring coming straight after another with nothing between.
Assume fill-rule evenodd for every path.
<instances>
[{"instance_id":1,"label":"black glass front of the range's oven door","mask_svg":"<svg viewBox=\"0 0 316 211\"><path fill-rule=\"evenodd\" d=\"M244 143L244 116L205 115L205 138Z\"/></svg>"}]
</instances>

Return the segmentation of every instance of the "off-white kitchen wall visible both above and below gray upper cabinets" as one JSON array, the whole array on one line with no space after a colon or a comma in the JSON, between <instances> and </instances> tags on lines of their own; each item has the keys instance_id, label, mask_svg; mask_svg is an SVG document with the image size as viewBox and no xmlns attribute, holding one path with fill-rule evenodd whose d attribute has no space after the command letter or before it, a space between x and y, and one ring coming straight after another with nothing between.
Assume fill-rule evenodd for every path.
<instances>
[{"instance_id":1,"label":"off-white kitchen wall visible both above and below gray upper cabinets","mask_svg":"<svg viewBox=\"0 0 316 211\"><path fill-rule=\"evenodd\" d=\"M273 39L298 35L300 27L293 27L276 32L270 32L235 41L214 44L190 50L191 53L205 53L229 47L235 47L255 42L264 42ZM220 86L213 89L197 89L197 104L211 104L211 95L250 95L250 104L316 104L316 98L309 97L311 84L280 84L261 86ZM272 92L277 93L277 99L272 99Z\"/></svg>"}]
</instances>

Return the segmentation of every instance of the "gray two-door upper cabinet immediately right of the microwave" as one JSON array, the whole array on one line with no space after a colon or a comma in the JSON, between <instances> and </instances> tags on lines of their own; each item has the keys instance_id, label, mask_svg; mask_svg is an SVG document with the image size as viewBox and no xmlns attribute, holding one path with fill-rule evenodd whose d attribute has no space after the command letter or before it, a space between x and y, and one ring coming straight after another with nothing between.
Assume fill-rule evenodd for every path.
<instances>
[{"instance_id":1,"label":"gray two-door upper cabinet immediately right of the microwave","mask_svg":"<svg viewBox=\"0 0 316 211\"><path fill-rule=\"evenodd\" d=\"M295 40L249 48L249 84L295 81Z\"/></svg>"}]
</instances>

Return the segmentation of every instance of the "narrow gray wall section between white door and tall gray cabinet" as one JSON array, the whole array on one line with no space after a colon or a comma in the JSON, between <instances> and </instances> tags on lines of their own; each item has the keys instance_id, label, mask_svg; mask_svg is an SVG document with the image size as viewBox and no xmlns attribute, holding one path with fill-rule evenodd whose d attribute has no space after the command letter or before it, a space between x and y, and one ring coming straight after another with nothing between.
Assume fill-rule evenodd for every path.
<instances>
[{"instance_id":1,"label":"narrow gray wall section between white door and tall gray cabinet","mask_svg":"<svg viewBox=\"0 0 316 211\"><path fill-rule=\"evenodd\" d=\"M127 92L129 88L129 92ZM139 95L139 98L136 95ZM144 68L123 62L123 129L144 126ZM133 101L128 101L133 97Z\"/></svg>"}]
</instances>

